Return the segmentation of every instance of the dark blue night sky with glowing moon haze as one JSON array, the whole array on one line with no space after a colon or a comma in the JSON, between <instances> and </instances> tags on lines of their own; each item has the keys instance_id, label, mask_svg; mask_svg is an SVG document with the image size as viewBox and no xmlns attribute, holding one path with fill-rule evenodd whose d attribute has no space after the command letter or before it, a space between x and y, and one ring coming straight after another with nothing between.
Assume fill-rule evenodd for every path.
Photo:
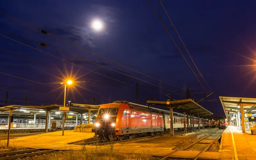
<instances>
[{"instance_id":1,"label":"dark blue night sky with glowing moon haze","mask_svg":"<svg viewBox=\"0 0 256 160\"><path fill-rule=\"evenodd\" d=\"M209 87L200 78L200 74L189 59L188 53L163 8L159 7L158 0L150 2L157 14L160 14L161 20L195 70L205 89L210 91L210 87L215 92L219 106L216 101L201 102L203 107L215 115L221 116L224 115L224 112L218 96L255 97L253 90L256 77L255 66L244 66L255 64L256 2L254 0L242 3L241 1L215 1L214 3L188 0L162 1ZM159 79L160 81L148 78L54 39L52 36L41 34L38 30L0 13L0 34L113 79L132 85L136 85L138 82L141 87L139 89L140 104L145 104L145 97L166 101L166 93L185 93L186 87L189 87L192 93L204 91L147 0L86 2L80 0L76 3L70 0L45 0L43 3L33 0L9 0L1 2L0 11L87 51ZM91 27L92 21L95 19L100 19L104 23L102 31L95 31ZM52 48L79 56L82 59L52 48L41 47L35 42L3 30L24 36L35 42L44 42ZM37 92L26 93L0 88L1 104L5 103L6 91L9 92L9 99L13 100L9 101L9 104L24 104L26 96L29 96L29 104L33 105L61 104L64 87L59 84L61 80L58 77L63 79L64 76L70 75L76 78L81 76L76 80L76 89L68 88L67 101L71 100L72 103L93 104L94 96L97 104L115 100L136 101L136 87L134 86L92 73L3 36L0 36L0 49L1 73L50 85L0 74L0 87ZM35 59L44 64L3 50ZM94 65L83 59L162 88ZM183 90L161 81L183 88ZM55 90L58 87L61 88ZM201 99L206 94L197 94L196 96ZM174 98L178 99L179 96ZM191 96L191 98L197 101L195 97ZM207 99L215 99L215 97L211 95Z\"/></svg>"}]
</instances>

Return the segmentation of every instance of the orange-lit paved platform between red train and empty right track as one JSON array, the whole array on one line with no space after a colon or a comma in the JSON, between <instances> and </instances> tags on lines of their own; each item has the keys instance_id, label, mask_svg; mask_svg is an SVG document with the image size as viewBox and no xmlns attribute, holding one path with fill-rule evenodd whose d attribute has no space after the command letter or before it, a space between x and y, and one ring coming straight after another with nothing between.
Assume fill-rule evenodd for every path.
<instances>
[{"instance_id":1,"label":"orange-lit paved platform between red train and empty right track","mask_svg":"<svg viewBox=\"0 0 256 160\"><path fill-rule=\"evenodd\" d=\"M115 150L120 152L125 152L128 154L140 154L140 153L148 153L153 156L163 157L166 154L174 152L173 149L176 147L185 146L191 141L194 141L195 138L198 138L199 135L204 135L206 132L209 132L213 129L204 129L201 131L195 131L194 134L190 134L187 136L182 136L183 133L175 133L174 136L165 134L161 135L160 137L153 138L153 139L146 139L141 140L134 143L117 143L115 145ZM197 151L179 151L172 155L172 157L181 157L181 158L193 158L194 155L197 155L199 152ZM219 157L219 153L205 153L202 154L201 157L212 158L212 157ZM195 156L194 156L195 157ZM202 158L203 159L203 158ZM217 160L216 158L212 158L213 160Z\"/></svg>"}]
</instances>

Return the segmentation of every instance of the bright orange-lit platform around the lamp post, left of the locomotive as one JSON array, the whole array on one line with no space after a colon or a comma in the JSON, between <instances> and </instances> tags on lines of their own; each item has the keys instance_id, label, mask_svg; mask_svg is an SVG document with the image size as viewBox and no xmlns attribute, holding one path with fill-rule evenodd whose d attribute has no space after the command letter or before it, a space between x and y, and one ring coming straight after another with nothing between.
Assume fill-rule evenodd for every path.
<instances>
[{"instance_id":1,"label":"bright orange-lit platform around the lamp post, left of the locomotive","mask_svg":"<svg viewBox=\"0 0 256 160\"><path fill-rule=\"evenodd\" d=\"M45 148L45 149L64 149L66 147L79 148L78 145L68 145L68 143L76 142L93 138L92 132L74 132L65 131L64 136L62 131L48 132L37 135L30 135L21 138L10 139L10 145L26 148Z\"/></svg>"}]
</instances>

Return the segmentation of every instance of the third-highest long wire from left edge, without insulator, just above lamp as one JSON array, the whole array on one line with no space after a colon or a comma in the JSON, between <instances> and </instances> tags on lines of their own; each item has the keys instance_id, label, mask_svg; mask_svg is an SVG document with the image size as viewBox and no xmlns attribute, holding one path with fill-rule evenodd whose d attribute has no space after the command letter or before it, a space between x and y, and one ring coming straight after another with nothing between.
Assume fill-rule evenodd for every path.
<instances>
[{"instance_id":1,"label":"third-highest long wire from left edge, without insulator, just above lamp","mask_svg":"<svg viewBox=\"0 0 256 160\"><path fill-rule=\"evenodd\" d=\"M4 35L2 35L2 34L0 34L0 36L3 36L3 37L5 37L5 38L7 38L7 39L11 39L11 38L9 38L9 37L7 37L7 36L4 36ZM22 43L22 42L19 42L19 41L15 40L15 39L11 39L11 40L13 40L13 41L15 41L15 42L18 42L18 43L20 43L20 44L22 44L22 45L26 45L26 44L24 44L24 43ZM76 64L74 64L74 63L72 63L72 62L69 62L69 61L67 61L67 60L65 60L65 59L61 59L61 58L59 58L59 57L57 57L57 56L54 56L54 55L52 55L52 54L50 54L50 53L41 51L41 50L39 50L39 49L37 49L37 48L31 47L31 46L29 46L29 45L26 45L26 46L29 47L29 48L33 48L33 49L35 49L35 50L37 50L37 51L40 51L40 52L42 52L42 53L48 54L49 56L53 56L53 57L55 57L55 58L57 58L57 59L60 59L60 60L62 60L62 61L64 61L64 62L68 62L68 63L70 63L70 64L76 65ZM85 68L85 67L82 67L82 66L80 66L80 65L76 65L76 66L81 67L81 68L83 68L83 69L85 69L85 70L89 70L89 69L87 69L87 68ZM101 73L97 73L97 72L95 72L95 71L93 71L93 70L89 70L89 71L90 71L90 72L93 72L93 73L96 73L96 74L99 74L99 75L101 75L101 76L105 76L105 77L107 77L107 78L109 78L109 79L113 79L113 80L122 82L122 83L124 83L124 84L128 84L128 85L130 85L130 86L136 87L136 86L133 85L133 84L129 84L129 83L126 83L126 82L124 82L124 81L120 81L120 80L118 80L118 79L114 79L114 78L112 78L112 77L103 75L103 74L101 74ZM139 88L141 88L141 89L143 89L143 90L148 90L148 89L145 89L145 88L142 88L142 87L139 87ZM150 92L155 92L155 91L151 91L151 90L148 90L148 91L150 91ZM155 93L158 93L158 92L155 92Z\"/></svg>"}]
</instances>

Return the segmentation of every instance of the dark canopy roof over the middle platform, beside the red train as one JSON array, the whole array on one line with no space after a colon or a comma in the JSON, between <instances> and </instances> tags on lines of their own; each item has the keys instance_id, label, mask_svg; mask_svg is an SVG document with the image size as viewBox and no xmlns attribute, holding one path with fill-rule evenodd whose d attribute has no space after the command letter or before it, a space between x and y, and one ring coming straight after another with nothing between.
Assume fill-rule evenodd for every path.
<instances>
[{"instance_id":1,"label":"dark canopy roof over the middle platform, beside the red train","mask_svg":"<svg viewBox=\"0 0 256 160\"><path fill-rule=\"evenodd\" d=\"M208 111L200 104L193 101L191 98L177 101L147 101L147 103L167 108L172 107L174 110L180 112L193 112L193 114L199 115L213 115L212 112Z\"/></svg>"}]
</instances>

